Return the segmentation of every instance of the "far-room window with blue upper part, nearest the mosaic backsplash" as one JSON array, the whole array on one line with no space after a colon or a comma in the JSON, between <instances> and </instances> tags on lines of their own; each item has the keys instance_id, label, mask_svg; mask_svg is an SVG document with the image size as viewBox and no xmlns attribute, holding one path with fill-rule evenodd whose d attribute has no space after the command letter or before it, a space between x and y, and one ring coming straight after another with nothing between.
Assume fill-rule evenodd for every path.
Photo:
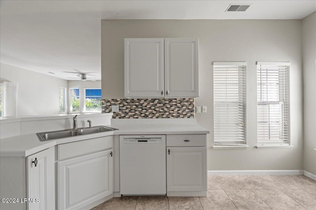
<instances>
[{"instance_id":1,"label":"far-room window with blue upper part, nearest the mosaic backsplash","mask_svg":"<svg viewBox=\"0 0 316 210\"><path fill-rule=\"evenodd\" d=\"M85 89L85 112L101 112L101 89Z\"/></svg>"}]
</instances>

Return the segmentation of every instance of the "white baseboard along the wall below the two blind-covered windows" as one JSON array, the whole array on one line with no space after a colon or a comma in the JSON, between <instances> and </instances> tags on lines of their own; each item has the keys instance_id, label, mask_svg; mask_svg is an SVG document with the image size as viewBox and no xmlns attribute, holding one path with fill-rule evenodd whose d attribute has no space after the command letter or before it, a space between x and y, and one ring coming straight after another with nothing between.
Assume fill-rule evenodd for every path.
<instances>
[{"instance_id":1,"label":"white baseboard along the wall below the two blind-covered windows","mask_svg":"<svg viewBox=\"0 0 316 210\"><path fill-rule=\"evenodd\" d=\"M223 170L207 171L208 176L220 175L305 175L303 170ZM315 175L314 175L315 176Z\"/></svg>"}]
</instances>

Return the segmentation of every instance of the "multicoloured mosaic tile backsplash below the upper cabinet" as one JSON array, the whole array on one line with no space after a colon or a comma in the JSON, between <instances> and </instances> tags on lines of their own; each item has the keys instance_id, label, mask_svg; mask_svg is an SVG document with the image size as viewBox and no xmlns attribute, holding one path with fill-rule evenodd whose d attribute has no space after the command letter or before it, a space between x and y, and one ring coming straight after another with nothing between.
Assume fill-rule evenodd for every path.
<instances>
[{"instance_id":1,"label":"multicoloured mosaic tile backsplash below the upper cabinet","mask_svg":"<svg viewBox=\"0 0 316 210\"><path fill-rule=\"evenodd\" d=\"M194 118L194 98L122 98L102 99L102 113L112 113L114 119Z\"/></svg>"}]
</instances>

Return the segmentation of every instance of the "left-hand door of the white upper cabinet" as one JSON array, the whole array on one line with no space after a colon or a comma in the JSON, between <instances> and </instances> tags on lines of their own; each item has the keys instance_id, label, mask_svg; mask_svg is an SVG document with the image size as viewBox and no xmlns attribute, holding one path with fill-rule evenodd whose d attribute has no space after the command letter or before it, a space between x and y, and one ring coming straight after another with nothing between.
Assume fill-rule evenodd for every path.
<instances>
[{"instance_id":1,"label":"left-hand door of the white upper cabinet","mask_svg":"<svg viewBox=\"0 0 316 210\"><path fill-rule=\"evenodd\" d=\"M163 39L124 39L124 96L162 97Z\"/></svg>"}]
</instances>

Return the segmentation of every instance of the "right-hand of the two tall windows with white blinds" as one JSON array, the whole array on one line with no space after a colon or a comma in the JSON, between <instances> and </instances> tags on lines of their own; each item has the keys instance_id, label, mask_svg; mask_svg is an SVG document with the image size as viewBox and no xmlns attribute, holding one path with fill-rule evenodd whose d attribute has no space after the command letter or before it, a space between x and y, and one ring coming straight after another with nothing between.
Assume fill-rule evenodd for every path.
<instances>
[{"instance_id":1,"label":"right-hand of the two tall windows with white blinds","mask_svg":"<svg viewBox=\"0 0 316 210\"><path fill-rule=\"evenodd\" d=\"M289 62L257 62L258 146L289 145Z\"/></svg>"}]
</instances>

